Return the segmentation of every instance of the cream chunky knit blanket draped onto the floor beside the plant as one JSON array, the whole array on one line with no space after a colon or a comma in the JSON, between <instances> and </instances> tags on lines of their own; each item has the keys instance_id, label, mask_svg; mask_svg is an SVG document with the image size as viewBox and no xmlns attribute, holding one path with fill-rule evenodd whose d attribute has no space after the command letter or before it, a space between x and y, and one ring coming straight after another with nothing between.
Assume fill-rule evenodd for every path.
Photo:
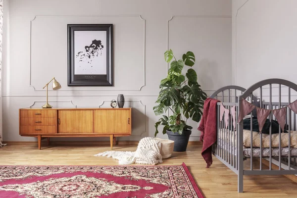
<instances>
[{"instance_id":1,"label":"cream chunky knit blanket draped onto the floor beside the plant","mask_svg":"<svg viewBox=\"0 0 297 198\"><path fill-rule=\"evenodd\" d=\"M158 164L162 163L160 154L161 143L154 138L140 140L135 152L131 151L105 151L95 156L107 156L119 160L119 164Z\"/></svg>"}]
</instances>

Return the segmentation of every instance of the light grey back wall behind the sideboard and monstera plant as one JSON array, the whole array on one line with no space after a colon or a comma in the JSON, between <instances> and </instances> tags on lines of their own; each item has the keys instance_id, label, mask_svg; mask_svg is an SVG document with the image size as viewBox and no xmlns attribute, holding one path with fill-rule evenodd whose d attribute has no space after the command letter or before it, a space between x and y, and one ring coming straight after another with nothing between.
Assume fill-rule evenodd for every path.
<instances>
[{"instance_id":1,"label":"light grey back wall behind the sideboard and monstera plant","mask_svg":"<svg viewBox=\"0 0 297 198\"><path fill-rule=\"evenodd\" d=\"M67 87L68 23L114 24L114 87ZM5 0L3 140L35 141L18 135L18 108L41 107L51 77L62 86L49 91L54 107L108 107L124 94L133 132L120 140L152 137L158 119L152 107L167 72L164 51L177 57L193 51L198 82L210 95L232 81L231 31L231 0ZM191 140L198 140L198 124L190 124Z\"/></svg>"}]
</instances>

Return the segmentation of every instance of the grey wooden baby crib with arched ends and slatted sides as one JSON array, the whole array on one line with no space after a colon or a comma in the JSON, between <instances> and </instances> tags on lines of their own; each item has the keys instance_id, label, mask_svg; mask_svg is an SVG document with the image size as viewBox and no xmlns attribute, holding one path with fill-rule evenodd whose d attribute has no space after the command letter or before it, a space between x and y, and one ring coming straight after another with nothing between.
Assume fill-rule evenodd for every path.
<instances>
[{"instance_id":1,"label":"grey wooden baby crib with arched ends and slatted sides","mask_svg":"<svg viewBox=\"0 0 297 198\"><path fill-rule=\"evenodd\" d=\"M297 145L297 132L295 133L296 113L290 108L287 108L285 126L288 133L286 134L281 133L281 127L279 127L279 134L272 134L272 124L269 127L269 134L253 132L252 124L250 124L249 130L244 130L244 121L242 120L238 123L238 114L241 110L242 99L246 99L252 104L255 104L259 100L258 107L260 108L279 109L291 104L295 100L294 97L297 96L296 93L297 85L290 81L284 79L267 79L255 83L247 90L239 86L226 86L210 96L210 98L218 99L222 102L217 103L217 141L212 146L212 153L238 175L239 193L242 193L244 190L244 175L297 174L297 148L295 148L295 145ZM224 118L225 116L229 116L228 126L225 126L224 118L222 121L219 120L220 105L222 104L229 110L235 106L235 127L232 125L233 116L231 115L224 114ZM248 117L252 120L252 112ZM270 123L275 119L272 112L268 115L268 119ZM281 145L285 141L284 137L289 141L287 147L282 147ZM263 142L265 141L267 144L264 148ZM277 147L275 146L275 141L278 141ZM248 147L245 146L247 142L250 142ZM255 142L259 142L259 145L253 145ZM244 168L244 160L246 159L250 160L248 168ZM259 161L259 167L257 168L253 167L255 160ZM269 168L262 166L263 160L269 162ZM277 170L272 169L272 163L278 166Z\"/></svg>"}]
</instances>

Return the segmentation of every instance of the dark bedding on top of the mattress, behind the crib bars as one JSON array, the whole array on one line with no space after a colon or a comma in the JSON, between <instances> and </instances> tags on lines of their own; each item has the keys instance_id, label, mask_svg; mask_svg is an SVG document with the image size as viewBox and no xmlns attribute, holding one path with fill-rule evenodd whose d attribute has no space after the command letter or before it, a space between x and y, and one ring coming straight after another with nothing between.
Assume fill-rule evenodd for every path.
<instances>
[{"instance_id":1,"label":"dark bedding on top of the mattress, behind the crib bars","mask_svg":"<svg viewBox=\"0 0 297 198\"><path fill-rule=\"evenodd\" d=\"M271 133L279 133L279 123L276 120L271 120ZM264 127L262 129L262 133L269 134L269 128L270 128L270 121L269 119L266 119ZM286 128L286 127L285 127ZM244 119L244 129L250 130L250 118ZM252 118L252 130L259 132L259 124L257 118ZM288 133L286 130L284 130L284 133Z\"/></svg>"}]
</instances>

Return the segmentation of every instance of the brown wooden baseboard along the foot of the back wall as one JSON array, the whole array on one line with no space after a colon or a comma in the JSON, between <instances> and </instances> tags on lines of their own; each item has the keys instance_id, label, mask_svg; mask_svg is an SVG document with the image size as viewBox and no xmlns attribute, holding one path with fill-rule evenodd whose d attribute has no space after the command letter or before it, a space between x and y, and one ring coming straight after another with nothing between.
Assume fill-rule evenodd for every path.
<instances>
[{"instance_id":1,"label":"brown wooden baseboard along the foot of the back wall","mask_svg":"<svg viewBox=\"0 0 297 198\"><path fill-rule=\"evenodd\" d=\"M46 141L42 141L46 142ZM116 141L117 145L138 145L139 141ZM37 142L3 142L7 145L38 145ZM188 145L201 145L200 141L189 141ZM110 145L109 141L50 141L50 145Z\"/></svg>"}]
</instances>

